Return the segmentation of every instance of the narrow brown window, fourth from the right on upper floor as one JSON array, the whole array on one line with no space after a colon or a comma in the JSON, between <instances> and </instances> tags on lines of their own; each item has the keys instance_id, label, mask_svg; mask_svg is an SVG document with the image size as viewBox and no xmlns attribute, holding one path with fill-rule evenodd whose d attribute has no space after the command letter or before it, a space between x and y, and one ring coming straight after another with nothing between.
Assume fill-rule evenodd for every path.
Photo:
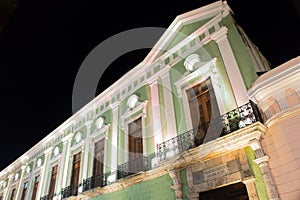
<instances>
[{"instance_id":1,"label":"narrow brown window, fourth from the right on upper floor","mask_svg":"<svg viewBox=\"0 0 300 200\"><path fill-rule=\"evenodd\" d=\"M71 188L72 195L76 196L78 194L78 182L79 182L79 172L80 172L80 162L81 162L81 152L73 156L73 168L71 176Z\"/></svg>"}]
</instances>

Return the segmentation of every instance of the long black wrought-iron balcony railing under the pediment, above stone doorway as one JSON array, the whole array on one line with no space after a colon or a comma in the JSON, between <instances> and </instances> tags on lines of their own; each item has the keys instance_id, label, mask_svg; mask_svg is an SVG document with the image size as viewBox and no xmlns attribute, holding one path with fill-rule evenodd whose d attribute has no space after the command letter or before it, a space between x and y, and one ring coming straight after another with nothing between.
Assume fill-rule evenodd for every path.
<instances>
[{"instance_id":1,"label":"long black wrought-iron balcony railing under the pediment, above stone doorway","mask_svg":"<svg viewBox=\"0 0 300 200\"><path fill-rule=\"evenodd\" d=\"M215 118L211 120L209 124L205 124L203 127L198 127L197 131L202 130L202 132L204 132L204 137L200 140L198 140L197 137L195 137L196 131L190 130L176 137L173 137L161 144L158 144L158 161L163 161L167 158L180 155L186 150L199 146L207 141L211 141L218 137L230 134L236 130L244 128L258 121L262 121L258 108L254 103L249 102L241 107L238 107L222 115L220 118ZM216 128L219 125L221 127ZM206 134L208 130L211 131L210 133L213 133L212 136Z\"/></svg>"}]
</instances>

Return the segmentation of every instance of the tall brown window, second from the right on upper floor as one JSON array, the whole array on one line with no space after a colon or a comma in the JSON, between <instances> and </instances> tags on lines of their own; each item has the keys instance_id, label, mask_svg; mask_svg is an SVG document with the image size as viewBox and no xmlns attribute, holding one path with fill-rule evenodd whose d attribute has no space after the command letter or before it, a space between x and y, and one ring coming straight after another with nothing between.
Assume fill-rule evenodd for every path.
<instances>
[{"instance_id":1,"label":"tall brown window, second from the right on upper floor","mask_svg":"<svg viewBox=\"0 0 300 200\"><path fill-rule=\"evenodd\" d=\"M143 171L142 117L128 124L128 170L131 173Z\"/></svg>"}]
</instances>

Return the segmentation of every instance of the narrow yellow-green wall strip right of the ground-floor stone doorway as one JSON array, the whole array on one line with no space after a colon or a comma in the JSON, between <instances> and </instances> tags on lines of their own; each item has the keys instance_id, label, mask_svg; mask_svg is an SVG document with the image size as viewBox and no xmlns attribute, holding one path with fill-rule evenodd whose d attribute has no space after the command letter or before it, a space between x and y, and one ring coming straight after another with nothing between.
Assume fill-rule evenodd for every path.
<instances>
[{"instance_id":1,"label":"narrow yellow-green wall strip right of the ground-floor stone doorway","mask_svg":"<svg viewBox=\"0 0 300 200\"><path fill-rule=\"evenodd\" d=\"M268 198L268 193L266 190L266 185L264 183L261 170L259 166L255 162L253 162L253 160L255 159L255 154L251 149L251 147L246 147L245 152L250 165L250 170L255 176L255 187L256 187L257 195L259 199L267 200L269 198Z\"/></svg>"}]
</instances>

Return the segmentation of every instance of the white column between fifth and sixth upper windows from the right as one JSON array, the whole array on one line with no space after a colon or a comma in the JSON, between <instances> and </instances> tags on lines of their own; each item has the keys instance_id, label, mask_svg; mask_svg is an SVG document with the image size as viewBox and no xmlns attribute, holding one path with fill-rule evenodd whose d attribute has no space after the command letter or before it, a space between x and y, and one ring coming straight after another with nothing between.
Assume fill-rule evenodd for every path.
<instances>
[{"instance_id":1,"label":"white column between fifth and sixth upper windows from the right","mask_svg":"<svg viewBox=\"0 0 300 200\"><path fill-rule=\"evenodd\" d=\"M38 193L37 193L37 198L36 199L40 199L41 197L43 197L44 195L46 195L46 186L47 186L47 177L48 177L48 165L49 165L49 157L51 155L53 147L49 147L48 149L46 149L44 151L45 154L45 159L44 159L44 165L42 166L42 175L41 175L41 182L40 182L40 187L38 189Z\"/></svg>"}]
</instances>

